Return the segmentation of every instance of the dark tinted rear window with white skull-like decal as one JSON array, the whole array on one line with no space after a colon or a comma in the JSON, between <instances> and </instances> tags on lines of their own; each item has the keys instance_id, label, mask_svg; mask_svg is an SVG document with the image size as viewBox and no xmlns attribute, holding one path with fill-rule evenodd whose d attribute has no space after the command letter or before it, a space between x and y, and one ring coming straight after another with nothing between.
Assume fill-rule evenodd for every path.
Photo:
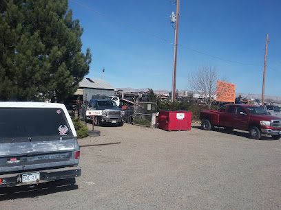
<instances>
[{"instance_id":1,"label":"dark tinted rear window with white skull-like decal","mask_svg":"<svg viewBox=\"0 0 281 210\"><path fill-rule=\"evenodd\" d=\"M0 108L0 141L46 137L73 137L61 108Z\"/></svg>"}]
</instances>

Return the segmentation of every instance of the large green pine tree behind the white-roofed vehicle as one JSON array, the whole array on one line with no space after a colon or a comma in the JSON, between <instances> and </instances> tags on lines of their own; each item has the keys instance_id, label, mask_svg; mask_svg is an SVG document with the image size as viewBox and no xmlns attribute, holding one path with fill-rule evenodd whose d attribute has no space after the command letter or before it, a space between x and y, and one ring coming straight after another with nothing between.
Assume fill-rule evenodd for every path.
<instances>
[{"instance_id":1,"label":"large green pine tree behind the white-roofed vehicle","mask_svg":"<svg viewBox=\"0 0 281 210\"><path fill-rule=\"evenodd\" d=\"M90 49L67 0L0 1L0 100L63 102L89 72Z\"/></svg>"}]
</instances>

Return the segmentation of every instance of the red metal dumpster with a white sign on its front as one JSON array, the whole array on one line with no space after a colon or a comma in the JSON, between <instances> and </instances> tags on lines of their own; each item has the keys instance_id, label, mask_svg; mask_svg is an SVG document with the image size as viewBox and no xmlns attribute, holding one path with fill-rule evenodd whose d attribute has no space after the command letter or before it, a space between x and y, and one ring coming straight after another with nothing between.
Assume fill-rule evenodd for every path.
<instances>
[{"instance_id":1,"label":"red metal dumpster with a white sign on its front","mask_svg":"<svg viewBox=\"0 0 281 210\"><path fill-rule=\"evenodd\" d=\"M192 113L184 110L160 110L158 128L163 130L191 130Z\"/></svg>"}]
</instances>

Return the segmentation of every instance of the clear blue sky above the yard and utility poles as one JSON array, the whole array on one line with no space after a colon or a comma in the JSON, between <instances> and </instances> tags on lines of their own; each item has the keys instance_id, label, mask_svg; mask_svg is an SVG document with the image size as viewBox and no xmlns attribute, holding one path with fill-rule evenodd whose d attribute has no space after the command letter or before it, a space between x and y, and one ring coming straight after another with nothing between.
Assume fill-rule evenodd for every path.
<instances>
[{"instance_id":1,"label":"clear blue sky above the yard and utility poles","mask_svg":"<svg viewBox=\"0 0 281 210\"><path fill-rule=\"evenodd\" d=\"M101 78L105 68L115 87L171 89L174 1L70 0L69 7L84 29L83 51L92 52L88 77ZM177 89L189 90L190 72L207 65L237 92L261 93L268 33L265 93L280 96L280 8L278 0L181 0Z\"/></svg>"}]
</instances>

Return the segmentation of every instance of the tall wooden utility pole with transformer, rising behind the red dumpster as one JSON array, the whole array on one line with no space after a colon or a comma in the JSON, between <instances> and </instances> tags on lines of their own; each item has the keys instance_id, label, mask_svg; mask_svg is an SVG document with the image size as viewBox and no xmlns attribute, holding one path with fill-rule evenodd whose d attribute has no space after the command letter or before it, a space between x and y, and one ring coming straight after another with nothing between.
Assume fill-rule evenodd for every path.
<instances>
[{"instance_id":1,"label":"tall wooden utility pole with transformer, rising behind the red dumpster","mask_svg":"<svg viewBox=\"0 0 281 210\"><path fill-rule=\"evenodd\" d=\"M174 17L174 12L171 13L171 23L176 22L175 28L175 40L174 40L174 68L173 68L173 79L171 88L171 102L176 99L176 59L178 56L178 16L180 12L180 0L176 0L176 19Z\"/></svg>"}]
</instances>

